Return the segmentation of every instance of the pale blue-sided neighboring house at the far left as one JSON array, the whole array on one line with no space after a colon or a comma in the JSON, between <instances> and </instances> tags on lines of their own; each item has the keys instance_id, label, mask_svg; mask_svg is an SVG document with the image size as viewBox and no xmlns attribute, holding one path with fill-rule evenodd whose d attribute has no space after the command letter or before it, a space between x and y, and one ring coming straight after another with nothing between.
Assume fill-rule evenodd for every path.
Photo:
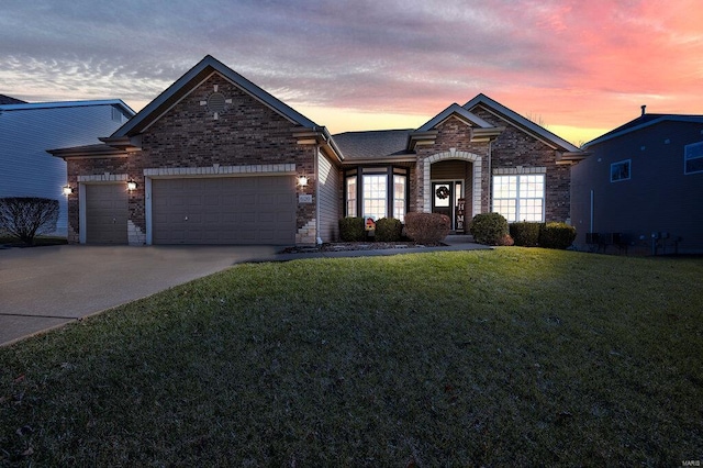
<instances>
[{"instance_id":1,"label":"pale blue-sided neighboring house at the far left","mask_svg":"<svg viewBox=\"0 0 703 468\"><path fill-rule=\"evenodd\" d=\"M26 103L0 98L7 102L0 104L0 198L58 200L55 234L65 236L68 214L62 188L66 163L46 149L99 143L98 135L114 132L134 111L120 100Z\"/></svg>"}]
</instances>

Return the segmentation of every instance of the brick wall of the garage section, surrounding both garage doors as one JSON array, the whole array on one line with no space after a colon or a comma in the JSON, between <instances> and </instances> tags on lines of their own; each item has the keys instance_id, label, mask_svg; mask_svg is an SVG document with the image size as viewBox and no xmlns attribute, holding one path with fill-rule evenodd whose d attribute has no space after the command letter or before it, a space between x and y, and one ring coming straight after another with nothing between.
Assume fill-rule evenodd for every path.
<instances>
[{"instance_id":1,"label":"brick wall of the garage section, surrounding both garage doors","mask_svg":"<svg viewBox=\"0 0 703 468\"><path fill-rule=\"evenodd\" d=\"M208 98L216 92L227 99L215 118ZM69 185L78 175L119 174L137 181L129 196L129 218L135 232L146 232L145 170L154 168L212 168L213 166L269 167L292 165L306 176L297 196L313 196L313 203L298 204L297 241L314 243L314 144L298 144L295 125L255 100L225 78L213 74L142 133L142 149L119 158L68 159ZM78 242L78 198L69 199L69 242ZM311 223L312 222L312 223ZM132 229L132 226L131 226ZM133 237L135 238L135 237Z\"/></svg>"}]
</instances>

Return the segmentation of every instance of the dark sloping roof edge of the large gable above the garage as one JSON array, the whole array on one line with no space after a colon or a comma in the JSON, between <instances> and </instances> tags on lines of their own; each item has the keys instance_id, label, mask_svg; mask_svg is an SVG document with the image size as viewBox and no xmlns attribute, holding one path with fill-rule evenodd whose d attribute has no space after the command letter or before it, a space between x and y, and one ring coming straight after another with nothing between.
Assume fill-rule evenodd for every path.
<instances>
[{"instance_id":1,"label":"dark sloping roof edge of the large gable above the garage","mask_svg":"<svg viewBox=\"0 0 703 468\"><path fill-rule=\"evenodd\" d=\"M319 127L317 124L295 111L290 105L254 85L252 81L224 65L222 62L211 55L207 55L194 67L186 71L182 77L176 80L176 82L169 86L164 92L156 97L156 99L142 109L134 118L122 125L122 127L118 129L109 140L134 136L143 132L213 73L222 75L242 91L263 102L265 105L278 112L295 125L311 129Z\"/></svg>"}]
</instances>

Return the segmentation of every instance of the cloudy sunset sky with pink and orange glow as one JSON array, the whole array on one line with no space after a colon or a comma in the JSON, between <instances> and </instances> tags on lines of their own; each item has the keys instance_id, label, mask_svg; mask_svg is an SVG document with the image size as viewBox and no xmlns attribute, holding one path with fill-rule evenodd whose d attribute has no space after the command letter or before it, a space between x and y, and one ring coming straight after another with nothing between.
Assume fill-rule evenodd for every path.
<instances>
[{"instance_id":1,"label":"cloudy sunset sky with pink and orange glow","mask_svg":"<svg viewBox=\"0 0 703 468\"><path fill-rule=\"evenodd\" d=\"M703 114L701 0L3 0L0 93L140 110L210 54L331 132L479 92L581 144Z\"/></svg>"}]
</instances>

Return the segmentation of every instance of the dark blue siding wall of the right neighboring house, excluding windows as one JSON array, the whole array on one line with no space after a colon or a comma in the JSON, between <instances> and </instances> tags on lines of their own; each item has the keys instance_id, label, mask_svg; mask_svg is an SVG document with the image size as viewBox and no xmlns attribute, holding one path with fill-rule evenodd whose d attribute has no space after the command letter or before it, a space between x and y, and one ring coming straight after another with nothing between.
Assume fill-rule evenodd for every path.
<instances>
[{"instance_id":1,"label":"dark blue siding wall of the right neighboring house, excluding windows","mask_svg":"<svg viewBox=\"0 0 703 468\"><path fill-rule=\"evenodd\" d=\"M703 174L683 174L683 147L701 141L703 124L662 122L590 147L572 168L576 244L585 248L593 190L593 232L622 233L645 252L652 232L666 232L682 238L679 252L703 252ZM611 182L611 164L626 159L631 179Z\"/></svg>"}]
</instances>

